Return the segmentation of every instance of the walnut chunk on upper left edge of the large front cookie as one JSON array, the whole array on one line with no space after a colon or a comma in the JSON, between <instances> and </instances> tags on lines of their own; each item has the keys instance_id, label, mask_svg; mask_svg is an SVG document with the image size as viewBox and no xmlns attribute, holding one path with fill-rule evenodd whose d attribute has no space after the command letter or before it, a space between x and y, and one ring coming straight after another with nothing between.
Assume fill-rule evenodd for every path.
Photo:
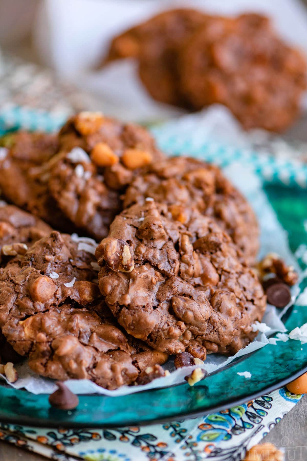
<instances>
[{"instance_id":1,"label":"walnut chunk on upper left edge of the large front cookie","mask_svg":"<svg viewBox=\"0 0 307 461\"><path fill-rule=\"evenodd\" d=\"M106 242L104 260L112 271L131 272L134 268L133 256L127 243L122 239L112 238Z\"/></svg>"}]
</instances>

